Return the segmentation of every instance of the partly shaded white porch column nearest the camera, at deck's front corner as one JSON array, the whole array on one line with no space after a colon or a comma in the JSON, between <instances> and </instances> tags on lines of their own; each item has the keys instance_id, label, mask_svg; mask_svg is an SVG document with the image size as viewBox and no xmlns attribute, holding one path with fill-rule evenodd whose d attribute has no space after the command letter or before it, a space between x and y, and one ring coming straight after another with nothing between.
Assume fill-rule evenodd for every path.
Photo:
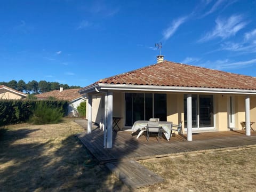
<instances>
[{"instance_id":1,"label":"partly shaded white porch column nearest the camera, at deck's front corner","mask_svg":"<svg viewBox=\"0 0 256 192\"><path fill-rule=\"evenodd\" d=\"M112 148L113 133L113 92L107 93L107 148Z\"/></svg>"}]
</instances>

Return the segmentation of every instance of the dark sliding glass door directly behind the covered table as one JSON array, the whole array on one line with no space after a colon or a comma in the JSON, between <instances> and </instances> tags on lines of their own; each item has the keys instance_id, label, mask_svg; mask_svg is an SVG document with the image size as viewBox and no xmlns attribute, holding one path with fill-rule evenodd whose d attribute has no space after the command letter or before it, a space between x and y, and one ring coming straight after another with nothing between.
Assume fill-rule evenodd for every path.
<instances>
[{"instance_id":1,"label":"dark sliding glass door directly behind the covered table","mask_svg":"<svg viewBox=\"0 0 256 192\"><path fill-rule=\"evenodd\" d=\"M125 126L150 118L166 121L166 94L125 93Z\"/></svg>"}]
</instances>

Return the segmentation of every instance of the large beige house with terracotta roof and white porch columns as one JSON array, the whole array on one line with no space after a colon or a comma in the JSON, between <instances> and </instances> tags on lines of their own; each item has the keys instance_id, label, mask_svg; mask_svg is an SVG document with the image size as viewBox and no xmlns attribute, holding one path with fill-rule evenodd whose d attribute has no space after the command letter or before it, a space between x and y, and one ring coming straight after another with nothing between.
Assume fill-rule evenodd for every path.
<instances>
[{"instance_id":1,"label":"large beige house with terracotta roof and white porch columns","mask_svg":"<svg viewBox=\"0 0 256 192\"><path fill-rule=\"evenodd\" d=\"M88 132L92 121L102 122L107 148L113 117L122 117L123 129L151 117L182 121L188 141L194 132L242 129L242 122L250 135L256 121L256 77L166 61L163 55L154 65L101 79L79 93L88 98Z\"/></svg>"}]
</instances>

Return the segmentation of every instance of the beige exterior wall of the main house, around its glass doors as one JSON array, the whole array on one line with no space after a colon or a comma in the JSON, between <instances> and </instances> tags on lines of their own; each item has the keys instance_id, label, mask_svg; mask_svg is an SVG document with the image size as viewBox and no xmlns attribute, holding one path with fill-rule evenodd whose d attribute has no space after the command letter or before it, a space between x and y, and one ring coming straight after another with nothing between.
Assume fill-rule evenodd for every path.
<instances>
[{"instance_id":1,"label":"beige exterior wall of the main house, around its glass doors","mask_svg":"<svg viewBox=\"0 0 256 192\"><path fill-rule=\"evenodd\" d=\"M214 95L214 115L215 115L215 129L217 131L228 131L229 119L228 119L228 102L229 96L225 94ZM104 95L93 96L93 110L92 121L100 123L104 118L105 102ZM173 124L182 123L184 127L184 94L170 93L166 94L167 105L167 121L173 122ZM87 101L86 101L87 102ZM242 129L241 122L245 121L245 96L235 95L234 97L234 110L235 110L235 129ZM250 97L250 115L251 122L256 122L256 96ZM86 111L87 117L87 111ZM125 93L114 92L113 93L113 117L122 117L118 123L121 129L125 126ZM252 125L256 130L256 123Z\"/></svg>"}]
</instances>

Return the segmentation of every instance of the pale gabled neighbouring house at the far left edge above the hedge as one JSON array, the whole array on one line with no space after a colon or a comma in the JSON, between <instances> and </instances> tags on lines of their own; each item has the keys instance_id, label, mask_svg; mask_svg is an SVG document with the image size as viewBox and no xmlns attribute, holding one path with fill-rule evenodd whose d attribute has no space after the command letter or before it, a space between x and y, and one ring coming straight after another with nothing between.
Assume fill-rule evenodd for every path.
<instances>
[{"instance_id":1,"label":"pale gabled neighbouring house at the far left edge above the hedge","mask_svg":"<svg viewBox=\"0 0 256 192\"><path fill-rule=\"evenodd\" d=\"M23 99L27 94L14 90L5 85L0 85L0 99Z\"/></svg>"}]
</instances>

